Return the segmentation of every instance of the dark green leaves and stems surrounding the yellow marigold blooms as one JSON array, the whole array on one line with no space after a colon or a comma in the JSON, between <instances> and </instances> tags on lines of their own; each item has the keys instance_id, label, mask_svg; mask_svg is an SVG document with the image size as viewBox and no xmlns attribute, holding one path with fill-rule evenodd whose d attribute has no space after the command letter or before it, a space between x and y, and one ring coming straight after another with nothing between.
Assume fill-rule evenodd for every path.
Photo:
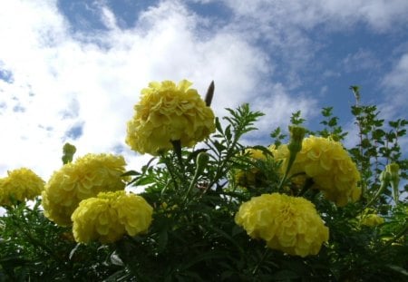
<instances>
[{"instance_id":1,"label":"dark green leaves and stems surrounding the yellow marigold blooms","mask_svg":"<svg viewBox=\"0 0 408 282\"><path fill-rule=\"evenodd\" d=\"M265 146L247 147L242 137L263 114L248 104L228 109L225 125L216 120L217 131L203 146L180 148L152 158L141 170L129 170L129 187L154 208L151 229L136 237L125 236L111 245L77 245L71 229L44 218L41 200L32 208L20 203L0 217L0 280L9 281L403 281L408 278L408 205L394 203L389 185L378 199L380 174L386 164L398 163L406 183L407 160L399 141L408 122L385 123L375 106L352 107L359 129L359 143L349 151L362 174L360 201L338 208L318 190L302 190L330 230L329 241L316 256L293 257L265 247L248 237L234 217L239 206L252 197L271 192L292 193L284 187L279 168ZM324 108L323 129L314 134L343 141L347 132ZM305 120L300 112L291 123ZM387 124L387 127L384 126ZM312 133L312 132L310 132ZM271 133L279 146L287 134ZM260 151L254 159L249 150ZM239 185L239 171L253 173L248 185ZM142 189L141 189L142 188ZM401 194L403 190L400 188ZM375 227L361 223L365 208L385 219Z\"/></svg>"}]
</instances>

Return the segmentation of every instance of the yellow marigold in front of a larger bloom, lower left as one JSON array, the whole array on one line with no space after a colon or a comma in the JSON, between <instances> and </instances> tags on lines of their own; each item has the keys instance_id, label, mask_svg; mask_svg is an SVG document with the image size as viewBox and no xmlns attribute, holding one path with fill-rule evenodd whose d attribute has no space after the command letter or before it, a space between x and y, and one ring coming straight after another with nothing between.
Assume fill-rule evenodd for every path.
<instances>
[{"instance_id":1,"label":"yellow marigold in front of a larger bloom, lower left","mask_svg":"<svg viewBox=\"0 0 408 282\"><path fill-rule=\"evenodd\" d=\"M73 237L82 243L112 243L124 234L146 232L152 213L153 208L141 196L124 190L101 192L96 198L84 199L73 211Z\"/></svg>"}]
</instances>

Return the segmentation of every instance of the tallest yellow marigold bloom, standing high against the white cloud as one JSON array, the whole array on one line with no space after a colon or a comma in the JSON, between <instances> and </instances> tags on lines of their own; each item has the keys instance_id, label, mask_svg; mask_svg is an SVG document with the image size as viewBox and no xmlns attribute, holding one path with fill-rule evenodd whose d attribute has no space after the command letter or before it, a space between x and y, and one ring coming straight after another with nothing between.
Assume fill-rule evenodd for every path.
<instances>
[{"instance_id":1,"label":"tallest yellow marigold bloom, standing high against the white cloud","mask_svg":"<svg viewBox=\"0 0 408 282\"><path fill-rule=\"evenodd\" d=\"M195 89L182 80L150 83L141 90L141 102L134 106L128 122L126 143L141 153L158 155L172 149L171 141L191 147L215 131L214 113Z\"/></svg>"}]
</instances>

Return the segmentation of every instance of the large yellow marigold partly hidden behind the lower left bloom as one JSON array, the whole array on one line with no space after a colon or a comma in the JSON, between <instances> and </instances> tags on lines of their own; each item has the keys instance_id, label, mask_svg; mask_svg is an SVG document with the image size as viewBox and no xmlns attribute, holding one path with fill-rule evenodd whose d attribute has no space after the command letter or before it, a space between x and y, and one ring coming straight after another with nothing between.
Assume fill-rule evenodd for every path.
<instances>
[{"instance_id":1,"label":"large yellow marigold partly hidden behind the lower left bloom","mask_svg":"<svg viewBox=\"0 0 408 282\"><path fill-rule=\"evenodd\" d=\"M56 224L72 224L73 210L83 199L102 191L124 190L125 160L111 154L87 154L53 173L43 192L44 215Z\"/></svg>"}]
</instances>

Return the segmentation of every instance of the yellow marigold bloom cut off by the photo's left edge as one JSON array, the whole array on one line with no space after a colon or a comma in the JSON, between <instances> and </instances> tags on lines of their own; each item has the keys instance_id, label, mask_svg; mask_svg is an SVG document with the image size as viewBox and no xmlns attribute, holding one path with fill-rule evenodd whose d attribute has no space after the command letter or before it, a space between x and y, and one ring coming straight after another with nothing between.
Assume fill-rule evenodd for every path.
<instances>
[{"instance_id":1,"label":"yellow marigold bloom cut off by the photo's left edge","mask_svg":"<svg viewBox=\"0 0 408 282\"><path fill-rule=\"evenodd\" d=\"M33 170L21 168L7 171L8 176L0 179L0 205L10 206L13 201L34 199L44 190L44 180Z\"/></svg>"}]
</instances>

